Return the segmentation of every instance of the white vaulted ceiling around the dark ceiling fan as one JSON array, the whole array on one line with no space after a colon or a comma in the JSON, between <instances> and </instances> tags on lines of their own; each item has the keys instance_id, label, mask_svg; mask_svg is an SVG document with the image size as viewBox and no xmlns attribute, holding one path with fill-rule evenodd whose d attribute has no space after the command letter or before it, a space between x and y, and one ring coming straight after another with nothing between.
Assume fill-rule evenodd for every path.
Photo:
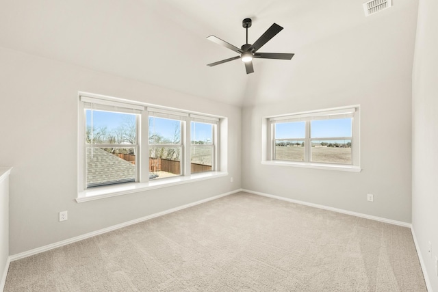
<instances>
[{"instance_id":1,"label":"white vaulted ceiling around the dark ceiling fan","mask_svg":"<svg viewBox=\"0 0 438 292\"><path fill-rule=\"evenodd\" d=\"M0 0L0 46L234 105L339 90L411 74L416 0L365 17L362 0ZM284 27L246 75L236 47L272 23Z\"/></svg>"}]
</instances>

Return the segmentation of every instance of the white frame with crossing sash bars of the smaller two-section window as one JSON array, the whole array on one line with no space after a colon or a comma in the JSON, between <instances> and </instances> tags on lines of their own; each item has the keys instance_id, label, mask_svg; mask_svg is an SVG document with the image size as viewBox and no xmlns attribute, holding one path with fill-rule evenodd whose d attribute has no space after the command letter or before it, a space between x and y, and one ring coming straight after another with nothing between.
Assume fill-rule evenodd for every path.
<instances>
[{"instance_id":1,"label":"white frame with crossing sash bars of the smaller two-section window","mask_svg":"<svg viewBox=\"0 0 438 292\"><path fill-rule=\"evenodd\" d=\"M351 118L351 137L311 137L311 122L314 120L331 120ZM305 122L305 138L276 139L275 124L279 122ZM292 166L298 168L319 168L325 170L342 170L360 172L360 105L322 109L281 116L268 116L262 120L262 164ZM276 159L276 140L304 141L304 161ZM351 140L351 163L330 163L312 161L312 141Z\"/></svg>"}]
</instances>

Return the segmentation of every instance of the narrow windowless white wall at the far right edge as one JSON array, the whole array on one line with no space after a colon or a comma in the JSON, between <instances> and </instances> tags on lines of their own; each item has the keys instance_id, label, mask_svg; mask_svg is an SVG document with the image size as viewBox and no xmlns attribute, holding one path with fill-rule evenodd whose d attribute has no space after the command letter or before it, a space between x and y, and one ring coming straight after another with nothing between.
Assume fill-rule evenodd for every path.
<instances>
[{"instance_id":1,"label":"narrow windowless white wall at the far right edge","mask_svg":"<svg viewBox=\"0 0 438 292\"><path fill-rule=\"evenodd\" d=\"M438 256L438 2L420 0L413 68L412 226L433 290ZM428 241L432 257L428 256Z\"/></svg>"}]
</instances>

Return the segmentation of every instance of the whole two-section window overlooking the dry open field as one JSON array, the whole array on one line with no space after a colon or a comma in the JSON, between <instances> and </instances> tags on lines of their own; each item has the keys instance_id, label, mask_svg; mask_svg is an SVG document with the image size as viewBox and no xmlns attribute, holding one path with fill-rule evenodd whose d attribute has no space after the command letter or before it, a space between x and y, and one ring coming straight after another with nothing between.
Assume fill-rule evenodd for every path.
<instances>
[{"instance_id":1,"label":"whole two-section window overlooking the dry open field","mask_svg":"<svg viewBox=\"0 0 438 292\"><path fill-rule=\"evenodd\" d=\"M267 118L266 161L359 168L359 106Z\"/></svg>"}]
</instances>

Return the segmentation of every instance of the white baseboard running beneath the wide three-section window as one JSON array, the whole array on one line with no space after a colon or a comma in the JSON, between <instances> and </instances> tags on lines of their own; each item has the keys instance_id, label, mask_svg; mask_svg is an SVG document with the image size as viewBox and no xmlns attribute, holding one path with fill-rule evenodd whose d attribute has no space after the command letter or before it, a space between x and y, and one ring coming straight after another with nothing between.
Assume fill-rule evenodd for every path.
<instances>
[{"instance_id":1,"label":"white baseboard running beneath the wide three-section window","mask_svg":"<svg viewBox=\"0 0 438 292\"><path fill-rule=\"evenodd\" d=\"M159 217L159 216L162 216L162 215L166 215L168 213L176 212L176 211L179 211L179 210L182 210L182 209L185 209L185 208L193 207L193 206L196 206L197 204L202 204L204 202L208 202L208 201L211 201L211 200L216 200L216 199L222 198L224 196L229 196L231 194L235 194L235 193L237 193L239 191L242 191L242 189L235 189L234 191L229 191L227 193L220 194L218 196L206 198L204 200L199 200L199 201L196 201L196 202L185 204L185 205L182 205L182 206L179 206L179 207L168 209L166 211L162 211L162 212L158 212L158 213L155 213L155 214L147 215L145 217L141 217L141 218L138 218L138 219L135 219L135 220L131 220L131 221L128 221L128 222L124 222L124 223L120 223L120 224L117 224L117 225L114 225L114 226L110 226L110 227L107 227L107 228L96 230L96 231L93 231L91 233L86 233L84 235L79 235L77 237L73 237L73 238L70 238L70 239L63 240L63 241L58 241L58 242L55 242L55 243L51 243L49 245L44 245L44 246L42 246L40 248L34 248L33 250L28 250L27 252L21 252L19 254L13 254L12 256L9 256L9 260L10 261L16 261L16 260L18 260L20 258L25 258L27 256L32 256L34 254L39 254L40 252L47 252L48 250L53 250L53 248L59 248L62 245L67 245L67 244L70 244L70 243L74 243L76 241L81 241L83 239L88 239L90 237L94 237L96 235L101 235L103 233L107 233L107 232L110 232L112 230L116 230L116 229L123 228L123 227L129 226L129 225L132 225L132 224L136 224L136 223L140 223L140 222L143 222L143 221L146 221L146 220L150 220L152 218Z\"/></svg>"}]
</instances>

